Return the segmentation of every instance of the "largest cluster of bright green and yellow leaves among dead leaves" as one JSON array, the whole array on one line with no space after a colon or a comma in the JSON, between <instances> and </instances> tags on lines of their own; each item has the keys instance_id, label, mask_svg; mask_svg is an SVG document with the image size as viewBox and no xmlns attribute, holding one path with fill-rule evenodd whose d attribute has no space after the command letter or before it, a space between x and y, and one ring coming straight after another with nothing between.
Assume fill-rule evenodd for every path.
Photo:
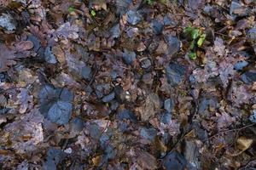
<instances>
[{"instance_id":1,"label":"largest cluster of bright green and yellow leaves among dead leaves","mask_svg":"<svg viewBox=\"0 0 256 170\"><path fill-rule=\"evenodd\" d=\"M203 42L206 40L207 35L201 29L192 26L187 26L183 32L191 41L189 46L189 58L196 59L195 48L201 48Z\"/></svg>"}]
</instances>

